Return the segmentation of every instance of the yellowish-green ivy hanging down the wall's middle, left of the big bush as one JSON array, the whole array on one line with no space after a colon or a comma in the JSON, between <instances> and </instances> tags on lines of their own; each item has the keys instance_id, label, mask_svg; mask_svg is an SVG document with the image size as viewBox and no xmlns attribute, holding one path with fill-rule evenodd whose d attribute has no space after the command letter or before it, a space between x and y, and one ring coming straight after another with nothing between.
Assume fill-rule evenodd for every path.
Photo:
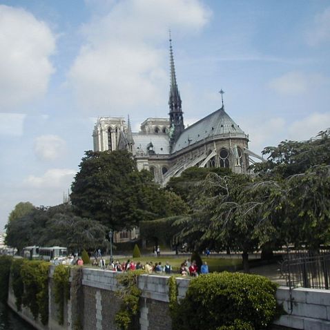
<instances>
[{"instance_id":1,"label":"yellowish-green ivy hanging down the wall's middle, left of the big bush","mask_svg":"<svg viewBox=\"0 0 330 330\"><path fill-rule=\"evenodd\" d=\"M115 294L122 300L122 304L115 316L115 323L120 330L132 329L139 312L139 298L141 290L137 287L137 278L143 271L128 271L117 275L117 282L121 285Z\"/></svg>"}]
</instances>

